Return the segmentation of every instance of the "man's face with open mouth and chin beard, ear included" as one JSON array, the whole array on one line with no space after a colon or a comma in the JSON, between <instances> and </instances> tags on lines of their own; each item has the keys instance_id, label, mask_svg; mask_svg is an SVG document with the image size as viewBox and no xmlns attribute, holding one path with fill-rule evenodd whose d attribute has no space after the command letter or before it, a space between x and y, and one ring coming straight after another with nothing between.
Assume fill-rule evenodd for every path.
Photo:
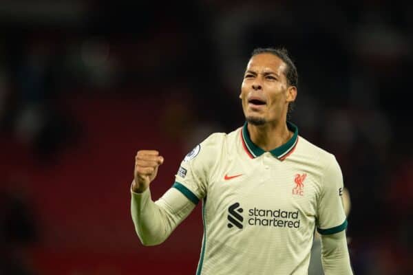
<instances>
[{"instance_id":1,"label":"man's face with open mouth and chin beard, ear included","mask_svg":"<svg viewBox=\"0 0 413 275\"><path fill-rule=\"evenodd\" d=\"M286 63L274 54L253 56L244 74L240 98L246 120L262 125L282 119L288 110L288 102L295 100L297 89L288 87Z\"/></svg>"}]
</instances>

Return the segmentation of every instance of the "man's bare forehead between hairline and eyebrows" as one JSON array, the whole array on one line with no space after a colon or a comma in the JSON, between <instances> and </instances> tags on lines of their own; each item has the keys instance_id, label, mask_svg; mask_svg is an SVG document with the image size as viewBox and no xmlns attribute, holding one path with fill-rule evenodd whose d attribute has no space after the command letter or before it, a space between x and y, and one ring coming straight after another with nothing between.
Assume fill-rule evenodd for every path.
<instances>
[{"instance_id":1,"label":"man's bare forehead between hairline and eyebrows","mask_svg":"<svg viewBox=\"0 0 413 275\"><path fill-rule=\"evenodd\" d=\"M248 61L246 69L257 69L260 71L268 70L281 74L282 72L285 72L286 63L284 63L284 61L282 61L282 59L276 56L275 54L256 54L255 56L251 57L251 59Z\"/></svg>"}]
</instances>

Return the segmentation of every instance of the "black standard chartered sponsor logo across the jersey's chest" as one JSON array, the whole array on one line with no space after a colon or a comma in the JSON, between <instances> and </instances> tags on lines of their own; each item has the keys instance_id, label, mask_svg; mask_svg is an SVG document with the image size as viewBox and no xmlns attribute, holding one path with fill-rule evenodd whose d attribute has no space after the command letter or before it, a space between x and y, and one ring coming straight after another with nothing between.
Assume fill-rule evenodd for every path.
<instances>
[{"instance_id":1,"label":"black standard chartered sponsor logo across the jersey's chest","mask_svg":"<svg viewBox=\"0 0 413 275\"><path fill-rule=\"evenodd\" d=\"M242 212L244 210L240 207L240 203L233 203L228 208L228 227L243 228L244 217ZM299 228L300 219L299 212L286 211L282 209L248 209L248 217L246 223L253 226L271 226L275 228Z\"/></svg>"}]
</instances>

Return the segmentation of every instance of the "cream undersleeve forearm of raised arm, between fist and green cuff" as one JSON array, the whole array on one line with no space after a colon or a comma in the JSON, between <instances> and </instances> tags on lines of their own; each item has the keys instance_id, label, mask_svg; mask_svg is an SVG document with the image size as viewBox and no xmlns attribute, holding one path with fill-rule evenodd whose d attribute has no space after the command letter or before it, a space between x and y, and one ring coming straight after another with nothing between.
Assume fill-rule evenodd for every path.
<instances>
[{"instance_id":1,"label":"cream undersleeve forearm of raised arm, between fist and green cuff","mask_svg":"<svg viewBox=\"0 0 413 275\"><path fill-rule=\"evenodd\" d=\"M158 245L191 213L195 204L176 188L169 189L153 202L151 191L131 190L131 215L143 245Z\"/></svg>"}]
</instances>

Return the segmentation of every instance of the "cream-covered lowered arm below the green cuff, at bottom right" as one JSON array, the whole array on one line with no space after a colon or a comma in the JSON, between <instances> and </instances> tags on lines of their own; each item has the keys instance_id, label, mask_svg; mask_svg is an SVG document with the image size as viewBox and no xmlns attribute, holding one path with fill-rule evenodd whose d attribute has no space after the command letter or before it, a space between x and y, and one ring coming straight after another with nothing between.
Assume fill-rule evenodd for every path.
<instances>
[{"instance_id":1,"label":"cream-covered lowered arm below the green cuff, at bottom right","mask_svg":"<svg viewBox=\"0 0 413 275\"><path fill-rule=\"evenodd\" d=\"M326 275L353 274L350 267L346 230L321 235L321 263L323 263Z\"/></svg>"}]
</instances>

